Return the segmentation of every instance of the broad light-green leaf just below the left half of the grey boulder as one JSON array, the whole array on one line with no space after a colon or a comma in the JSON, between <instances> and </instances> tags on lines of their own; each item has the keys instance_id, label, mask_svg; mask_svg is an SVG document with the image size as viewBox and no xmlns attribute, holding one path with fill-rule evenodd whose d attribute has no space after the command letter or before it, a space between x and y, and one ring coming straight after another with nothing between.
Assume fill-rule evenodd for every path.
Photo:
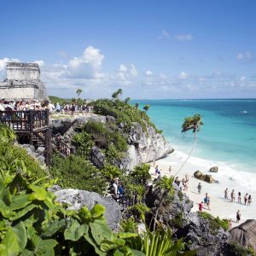
<instances>
[{"instance_id":1,"label":"broad light-green leaf just below the left half of the grey boulder","mask_svg":"<svg viewBox=\"0 0 256 256\"><path fill-rule=\"evenodd\" d=\"M73 220L71 226L65 230L64 237L67 240L78 241L88 230L87 224L81 225L77 220Z\"/></svg>"}]
</instances>

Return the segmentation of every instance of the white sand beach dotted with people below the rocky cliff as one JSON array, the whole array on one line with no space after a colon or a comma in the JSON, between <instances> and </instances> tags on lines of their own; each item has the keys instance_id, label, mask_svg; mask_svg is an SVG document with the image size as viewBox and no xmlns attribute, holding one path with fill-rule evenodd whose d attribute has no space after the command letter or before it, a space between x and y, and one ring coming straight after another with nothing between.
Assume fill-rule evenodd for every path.
<instances>
[{"instance_id":1,"label":"white sand beach dotted with people below the rocky cliff","mask_svg":"<svg viewBox=\"0 0 256 256\"><path fill-rule=\"evenodd\" d=\"M166 175L167 177L170 177L169 166L171 166L171 175L174 176L182 165L185 158L186 155L182 152L174 151L166 158L156 160L155 163L150 163L151 168L149 172L154 176L155 164L155 166L159 166L159 169L161 170L161 176ZM203 201L206 193L208 193L211 199L210 211L207 209L207 207L205 207L203 211L209 212L215 217L218 216L219 218L231 218L233 220L233 227L237 225L237 210L240 210L241 212L240 224L248 218L256 219L256 203L254 201L256 200L256 183L254 184L254 187L247 185L250 182L250 175L253 175L253 173L251 174L244 172L242 174L243 176L248 176L248 183L243 184L241 183L241 180L237 182L236 179L230 178L232 176L232 172L230 171L230 173L227 173L228 171L226 168L224 168L224 166L218 166L217 173L209 172L209 168L216 165L218 166L218 163L191 157L189 159L189 162L187 162L186 165L183 166L183 170L177 174L180 180L182 180L182 178L185 177L186 174L189 174L189 189L188 191L183 192L189 195L191 201L194 201L194 207L192 208L192 211L198 211L198 203ZM200 170L204 174L212 174L212 177L215 180L218 180L218 183L206 183L193 177L194 172L197 170ZM201 182L202 187L201 195L199 195L197 191L197 185L199 182ZM224 199L224 190L226 188L229 189L229 198L231 190L235 189L236 200L234 202L230 202L230 200ZM242 204L237 202L237 194L239 191L241 192ZM252 203L249 207L245 206L243 203L243 196L246 193L248 193L248 195L252 195Z\"/></svg>"}]
</instances>

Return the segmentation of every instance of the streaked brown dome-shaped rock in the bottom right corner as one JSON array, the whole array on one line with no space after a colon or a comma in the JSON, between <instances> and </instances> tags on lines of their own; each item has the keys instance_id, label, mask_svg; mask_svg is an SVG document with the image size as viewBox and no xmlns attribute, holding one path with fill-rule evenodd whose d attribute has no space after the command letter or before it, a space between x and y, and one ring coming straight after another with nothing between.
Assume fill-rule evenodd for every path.
<instances>
[{"instance_id":1,"label":"streaked brown dome-shaped rock in the bottom right corner","mask_svg":"<svg viewBox=\"0 0 256 256\"><path fill-rule=\"evenodd\" d=\"M253 247L256 251L256 220L247 219L246 222L230 230L233 241L244 247Z\"/></svg>"}]
</instances>

